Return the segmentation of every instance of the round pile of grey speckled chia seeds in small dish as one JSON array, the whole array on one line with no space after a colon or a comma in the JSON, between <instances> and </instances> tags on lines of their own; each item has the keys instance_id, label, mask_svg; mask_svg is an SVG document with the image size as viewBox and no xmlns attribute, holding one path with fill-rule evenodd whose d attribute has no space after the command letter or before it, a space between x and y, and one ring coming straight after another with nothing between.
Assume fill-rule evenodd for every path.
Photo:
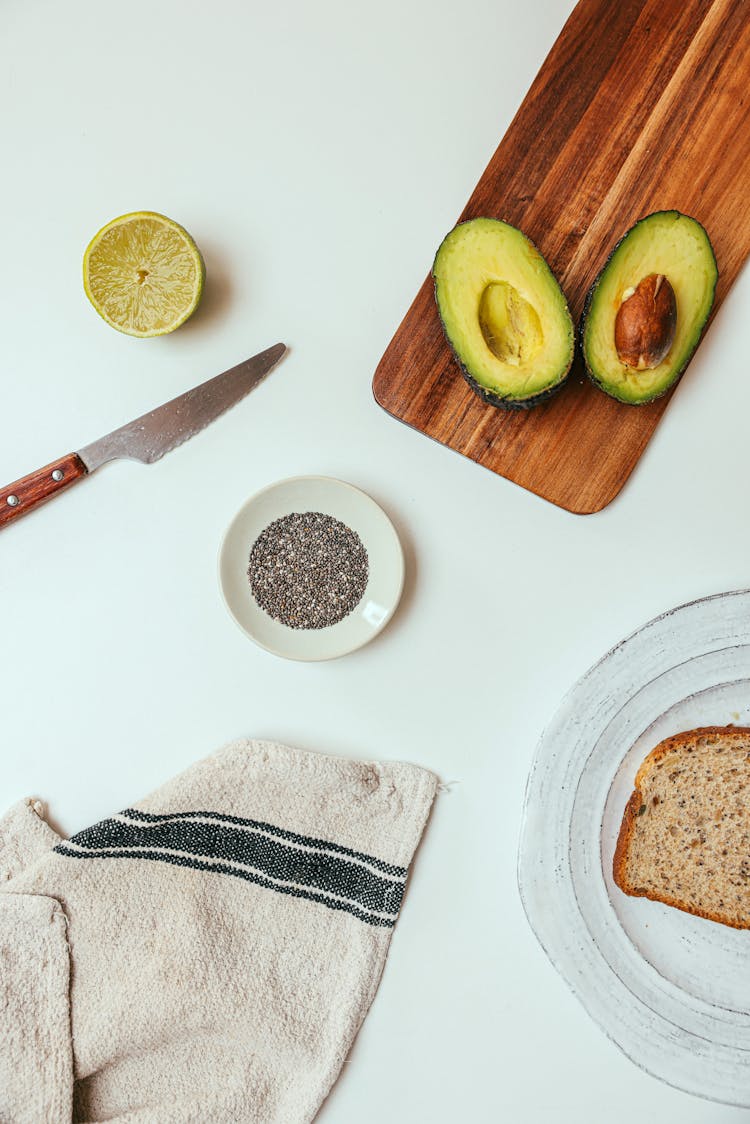
<instances>
[{"instance_id":1,"label":"round pile of grey speckled chia seeds in small dish","mask_svg":"<svg viewBox=\"0 0 750 1124\"><path fill-rule=\"evenodd\" d=\"M289 628L336 625L362 600L368 552L346 524L320 511L274 519L250 552L250 588L262 609Z\"/></svg>"}]
</instances>

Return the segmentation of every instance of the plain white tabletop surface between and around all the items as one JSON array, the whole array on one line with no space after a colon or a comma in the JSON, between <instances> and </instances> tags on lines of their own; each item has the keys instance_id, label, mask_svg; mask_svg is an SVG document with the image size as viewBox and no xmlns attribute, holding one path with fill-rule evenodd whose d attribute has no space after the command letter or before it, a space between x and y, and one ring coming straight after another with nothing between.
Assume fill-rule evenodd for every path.
<instances>
[{"instance_id":1,"label":"plain white tabletop surface between and around all the items","mask_svg":"<svg viewBox=\"0 0 750 1124\"><path fill-rule=\"evenodd\" d=\"M38 795L73 832L244 734L457 781L326 1124L750 1121L618 1053L546 962L515 879L528 764L568 686L657 613L750 584L750 273L600 515L533 498L370 392L571 7L6 0L0 13L0 478L279 338L292 348L164 461L110 465L2 533L1 803ZM183 223L206 257L202 307L163 339L112 332L80 281L91 235L138 208ZM254 647L216 580L240 505L306 472L369 491L408 562L391 626L324 665Z\"/></svg>"}]
</instances>

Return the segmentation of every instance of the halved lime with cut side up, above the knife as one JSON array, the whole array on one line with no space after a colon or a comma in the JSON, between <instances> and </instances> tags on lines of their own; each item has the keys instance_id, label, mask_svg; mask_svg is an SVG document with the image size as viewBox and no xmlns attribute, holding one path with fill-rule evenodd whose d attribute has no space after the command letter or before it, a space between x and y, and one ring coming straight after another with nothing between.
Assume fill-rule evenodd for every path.
<instances>
[{"instance_id":1,"label":"halved lime with cut side up, above the knife","mask_svg":"<svg viewBox=\"0 0 750 1124\"><path fill-rule=\"evenodd\" d=\"M206 270L178 223L155 211L120 215L83 255L85 294L107 324L128 336L163 336L195 312Z\"/></svg>"}]
</instances>

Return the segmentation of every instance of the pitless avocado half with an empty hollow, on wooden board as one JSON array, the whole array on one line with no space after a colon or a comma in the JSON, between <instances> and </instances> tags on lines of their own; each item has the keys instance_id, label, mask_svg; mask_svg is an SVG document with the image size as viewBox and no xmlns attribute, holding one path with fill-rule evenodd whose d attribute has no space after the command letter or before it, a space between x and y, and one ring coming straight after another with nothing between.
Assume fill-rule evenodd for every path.
<instances>
[{"instance_id":1,"label":"pitless avocado half with an empty hollow, on wooden board","mask_svg":"<svg viewBox=\"0 0 750 1124\"><path fill-rule=\"evenodd\" d=\"M494 218L460 223L432 273L448 342L484 401L530 409L559 390L572 363L573 324L562 289L525 234Z\"/></svg>"}]
</instances>

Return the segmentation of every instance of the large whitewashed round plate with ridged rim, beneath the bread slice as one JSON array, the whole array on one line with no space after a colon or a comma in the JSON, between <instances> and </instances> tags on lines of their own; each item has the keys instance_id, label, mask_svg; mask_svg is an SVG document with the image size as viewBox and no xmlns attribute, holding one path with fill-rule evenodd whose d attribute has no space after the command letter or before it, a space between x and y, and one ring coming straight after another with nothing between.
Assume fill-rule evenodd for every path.
<instances>
[{"instance_id":1,"label":"large whitewashed round plate with ridged rim, beneath the bread slice","mask_svg":"<svg viewBox=\"0 0 750 1124\"><path fill-rule=\"evenodd\" d=\"M518 886L552 963L633 1061L750 1106L750 931L629 897L612 878L643 758L670 734L730 723L750 726L750 590L657 617L572 688L528 778Z\"/></svg>"}]
</instances>

